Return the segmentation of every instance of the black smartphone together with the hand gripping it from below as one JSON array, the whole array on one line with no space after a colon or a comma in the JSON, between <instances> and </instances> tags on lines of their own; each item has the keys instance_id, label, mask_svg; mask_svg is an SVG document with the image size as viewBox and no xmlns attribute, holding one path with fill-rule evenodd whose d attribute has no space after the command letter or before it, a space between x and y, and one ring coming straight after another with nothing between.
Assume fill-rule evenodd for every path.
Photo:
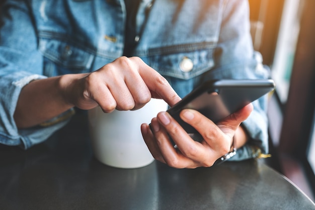
<instances>
[{"instance_id":1,"label":"black smartphone together with the hand gripping it from below","mask_svg":"<svg viewBox=\"0 0 315 210\"><path fill-rule=\"evenodd\" d=\"M208 81L167 112L157 114L150 126L143 123L144 141L156 160L175 168L218 164L235 154L238 146L230 147L231 138L240 130L240 123L247 119L253 108L245 106L274 87L272 80ZM198 112L186 110L181 113L183 109ZM228 117L238 110L238 114ZM180 118L180 113L189 123ZM194 138L196 135L200 136L199 141Z\"/></svg>"}]
</instances>

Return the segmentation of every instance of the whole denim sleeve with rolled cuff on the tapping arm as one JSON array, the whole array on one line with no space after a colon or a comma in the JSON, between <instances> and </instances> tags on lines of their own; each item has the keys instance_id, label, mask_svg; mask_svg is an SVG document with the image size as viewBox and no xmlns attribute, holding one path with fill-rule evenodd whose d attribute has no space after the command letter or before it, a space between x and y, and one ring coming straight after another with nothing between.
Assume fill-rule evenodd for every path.
<instances>
[{"instance_id":1,"label":"whole denim sleeve with rolled cuff on the tapping arm","mask_svg":"<svg viewBox=\"0 0 315 210\"><path fill-rule=\"evenodd\" d=\"M45 78L27 8L22 1L7 1L0 12L0 143L24 149L44 141L67 122L30 129L18 129L15 124L13 114L22 88L32 80Z\"/></svg>"}]
</instances>

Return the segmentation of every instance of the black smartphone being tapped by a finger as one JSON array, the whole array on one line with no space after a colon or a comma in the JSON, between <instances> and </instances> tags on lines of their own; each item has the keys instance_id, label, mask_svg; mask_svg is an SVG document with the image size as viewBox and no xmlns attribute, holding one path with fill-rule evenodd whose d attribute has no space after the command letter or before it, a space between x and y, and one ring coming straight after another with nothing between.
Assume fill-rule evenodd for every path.
<instances>
[{"instance_id":1,"label":"black smartphone being tapped by a finger","mask_svg":"<svg viewBox=\"0 0 315 210\"><path fill-rule=\"evenodd\" d=\"M274 89L273 80L211 80L194 89L167 112L187 133L197 133L180 118L183 109L195 109L216 123Z\"/></svg>"}]
</instances>

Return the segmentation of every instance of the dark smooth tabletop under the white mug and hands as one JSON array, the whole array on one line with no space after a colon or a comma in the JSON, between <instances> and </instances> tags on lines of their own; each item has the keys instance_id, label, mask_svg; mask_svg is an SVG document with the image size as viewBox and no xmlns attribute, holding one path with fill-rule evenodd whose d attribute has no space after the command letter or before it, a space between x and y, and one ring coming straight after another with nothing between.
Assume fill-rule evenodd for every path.
<instances>
[{"instance_id":1,"label":"dark smooth tabletop under the white mug and hands","mask_svg":"<svg viewBox=\"0 0 315 210\"><path fill-rule=\"evenodd\" d=\"M0 209L315 209L261 160L197 169L103 165L87 127L81 113L27 151L0 146Z\"/></svg>"}]
</instances>

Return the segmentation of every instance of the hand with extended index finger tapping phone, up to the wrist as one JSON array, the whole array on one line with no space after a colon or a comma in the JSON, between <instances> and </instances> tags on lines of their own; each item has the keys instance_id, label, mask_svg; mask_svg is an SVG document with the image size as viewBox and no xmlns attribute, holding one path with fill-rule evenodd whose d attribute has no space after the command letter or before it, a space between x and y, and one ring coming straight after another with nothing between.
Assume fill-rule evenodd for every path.
<instances>
[{"instance_id":1,"label":"hand with extended index finger tapping phone, up to the wrist","mask_svg":"<svg viewBox=\"0 0 315 210\"><path fill-rule=\"evenodd\" d=\"M104 112L136 110L151 98L171 106L180 100L167 80L138 57L117 58L68 84L65 98L81 109L99 105Z\"/></svg>"}]
</instances>

